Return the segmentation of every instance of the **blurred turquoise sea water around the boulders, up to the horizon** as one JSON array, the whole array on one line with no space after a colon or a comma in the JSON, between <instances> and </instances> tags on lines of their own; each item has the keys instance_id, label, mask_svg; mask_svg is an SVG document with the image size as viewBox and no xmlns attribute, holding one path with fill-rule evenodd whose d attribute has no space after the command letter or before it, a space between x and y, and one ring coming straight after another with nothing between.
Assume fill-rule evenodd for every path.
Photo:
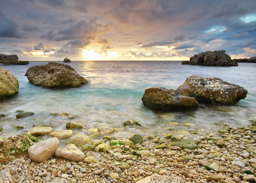
<instances>
[{"instance_id":1,"label":"blurred turquoise sea water around the boulders, up to the horizon","mask_svg":"<svg viewBox=\"0 0 256 183\"><path fill-rule=\"evenodd\" d=\"M71 65L89 84L79 88L47 89L29 83L24 76L33 65L48 61L30 62L29 65L4 65L13 73L20 84L18 95L0 103L0 119L4 128L0 137L27 132L34 123L51 123L54 130L65 129L68 121L83 124L81 134L93 134L97 127L112 127L115 137L127 138L131 134L158 134L171 131L218 131L224 125L247 127L255 117L256 87L255 63L239 63L239 66L181 65L181 62L145 61L73 61ZM62 62L60 62L62 63ZM197 75L219 77L224 81L240 85L248 90L246 99L235 106L211 106L200 104L198 110L188 112L154 113L145 108L141 98L145 88L161 86L177 89L186 77ZM16 110L34 112L28 118L15 120ZM69 112L75 118L70 120L54 113ZM123 127L125 120L138 120L142 126ZM170 122L176 122L173 125ZM196 124L185 127L183 124ZM218 125L220 124L220 125ZM16 127L23 126L23 129Z\"/></svg>"}]
</instances>

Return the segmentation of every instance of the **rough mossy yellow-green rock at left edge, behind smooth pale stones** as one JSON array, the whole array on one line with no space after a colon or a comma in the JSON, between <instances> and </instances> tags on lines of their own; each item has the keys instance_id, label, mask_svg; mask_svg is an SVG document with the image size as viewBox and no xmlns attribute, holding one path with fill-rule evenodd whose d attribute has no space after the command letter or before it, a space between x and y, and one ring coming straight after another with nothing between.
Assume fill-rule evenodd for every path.
<instances>
[{"instance_id":1,"label":"rough mossy yellow-green rock at left edge, behind smooth pale stones","mask_svg":"<svg viewBox=\"0 0 256 183\"><path fill-rule=\"evenodd\" d=\"M26 154L30 146L40 140L31 134L13 135L5 140L0 140L0 152L4 156Z\"/></svg>"}]
</instances>

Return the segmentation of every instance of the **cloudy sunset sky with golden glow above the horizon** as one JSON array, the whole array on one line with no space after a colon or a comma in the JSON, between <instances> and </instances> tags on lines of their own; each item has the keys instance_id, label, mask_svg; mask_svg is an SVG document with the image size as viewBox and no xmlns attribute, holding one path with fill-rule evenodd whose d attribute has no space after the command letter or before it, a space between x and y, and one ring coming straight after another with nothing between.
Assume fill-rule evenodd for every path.
<instances>
[{"instance_id":1,"label":"cloudy sunset sky with golden glow above the horizon","mask_svg":"<svg viewBox=\"0 0 256 183\"><path fill-rule=\"evenodd\" d=\"M20 60L256 56L255 0L0 0L0 53Z\"/></svg>"}]
</instances>

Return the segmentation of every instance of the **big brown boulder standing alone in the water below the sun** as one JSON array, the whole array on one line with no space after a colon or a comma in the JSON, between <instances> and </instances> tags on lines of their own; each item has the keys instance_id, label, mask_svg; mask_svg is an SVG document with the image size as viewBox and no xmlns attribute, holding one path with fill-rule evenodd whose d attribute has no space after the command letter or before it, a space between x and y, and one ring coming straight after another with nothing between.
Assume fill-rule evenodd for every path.
<instances>
[{"instance_id":1,"label":"big brown boulder standing alone in the water below the sun","mask_svg":"<svg viewBox=\"0 0 256 183\"><path fill-rule=\"evenodd\" d=\"M45 88L80 87L88 83L70 65L56 62L31 66L25 76L32 84Z\"/></svg>"}]
</instances>

